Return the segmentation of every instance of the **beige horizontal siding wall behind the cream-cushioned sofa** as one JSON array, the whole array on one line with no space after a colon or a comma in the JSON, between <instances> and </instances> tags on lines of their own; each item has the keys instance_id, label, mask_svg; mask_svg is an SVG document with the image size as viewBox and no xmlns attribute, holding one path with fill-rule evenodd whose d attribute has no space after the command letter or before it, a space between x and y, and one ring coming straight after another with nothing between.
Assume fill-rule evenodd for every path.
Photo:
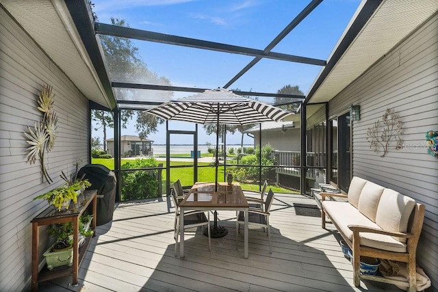
<instances>
[{"instance_id":1,"label":"beige horizontal siding wall behind the cream-cushioned sofa","mask_svg":"<svg viewBox=\"0 0 438 292\"><path fill-rule=\"evenodd\" d=\"M330 116L361 106L353 122L353 174L396 189L426 206L417 263L438 289L438 159L426 152L425 133L438 131L438 17L379 60L330 103ZM403 148L375 153L367 131L394 109L403 122ZM380 128L382 129L382 128Z\"/></svg>"}]
</instances>

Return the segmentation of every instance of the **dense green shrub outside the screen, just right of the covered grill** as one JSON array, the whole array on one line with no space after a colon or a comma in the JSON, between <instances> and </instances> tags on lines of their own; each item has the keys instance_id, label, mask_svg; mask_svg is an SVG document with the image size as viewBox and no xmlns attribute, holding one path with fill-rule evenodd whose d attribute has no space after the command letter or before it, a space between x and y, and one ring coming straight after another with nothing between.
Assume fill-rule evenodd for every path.
<instances>
[{"instance_id":1,"label":"dense green shrub outside the screen, just right of the covered grill","mask_svg":"<svg viewBox=\"0 0 438 292\"><path fill-rule=\"evenodd\" d=\"M131 169L121 172L122 200L140 200L144 198L157 198L158 184L157 174L160 170L141 170L139 168L156 168L157 160L153 157L127 161L121 166L122 169Z\"/></svg>"}]
</instances>

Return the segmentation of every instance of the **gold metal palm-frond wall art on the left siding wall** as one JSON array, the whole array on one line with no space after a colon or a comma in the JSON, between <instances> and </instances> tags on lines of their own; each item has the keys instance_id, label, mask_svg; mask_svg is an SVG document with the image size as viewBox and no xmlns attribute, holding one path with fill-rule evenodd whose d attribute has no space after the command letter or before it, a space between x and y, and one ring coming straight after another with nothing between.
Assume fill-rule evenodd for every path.
<instances>
[{"instance_id":1,"label":"gold metal palm-frond wall art on the left siding wall","mask_svg":"<svg viewBox=\"0 0 438 292\"><path fill-rule=\"evenodd\" d=\"M44 85L41 92L38 94L38 110L42 111L43 116L41 122L34 123L34 130L27 127L29 133L25 133L29 148L26 149L27 161L35 163L37 156L40 158L42 182L46 178L48 183L53 183L44 165L44 152L50 152L53 149L56 139L57 115L53 111L53 103L55 94L51 85Z\"/></svg>"}]
</instances>

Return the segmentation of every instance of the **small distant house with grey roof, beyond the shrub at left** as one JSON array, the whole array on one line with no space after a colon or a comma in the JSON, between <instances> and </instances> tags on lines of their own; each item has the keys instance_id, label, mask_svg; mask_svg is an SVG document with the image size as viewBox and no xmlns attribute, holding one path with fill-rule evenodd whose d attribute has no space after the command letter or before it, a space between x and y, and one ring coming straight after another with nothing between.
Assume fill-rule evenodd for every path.
<instances>
[{"instance_id":1,"label":"small distant house with grey roof, beyond the shrub at left","mask_svg":"<svg viewBox=\"0 0 438 292\"><path fill-rule=\"evenodd\" d=\"M114 156L114 138L105 140L107 142L108 154ZM120 136L120 154L123 157L153 156L153 141L140 139L138 136Z\"/></svg>"}]
</instances>

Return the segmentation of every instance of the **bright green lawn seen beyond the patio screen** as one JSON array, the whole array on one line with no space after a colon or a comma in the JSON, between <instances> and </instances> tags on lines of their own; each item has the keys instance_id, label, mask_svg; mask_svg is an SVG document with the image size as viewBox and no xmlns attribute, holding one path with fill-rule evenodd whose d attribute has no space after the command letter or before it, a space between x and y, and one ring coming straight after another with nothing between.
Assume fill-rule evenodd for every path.
<instances>
[{"instance_id":1,"label":"bright green lawn seen beyond the patio screen","mask_svg":"<svg viewBox=\"0 0 438 292\"><path fill-rule=\"evenodd\" d=\"M121 163L126 163L127 161L132 161L131 159L121 159ZM166 168L166 161L158 161L159 163L163 163L163 167ZM93 158L93 164L101 164L105 165L110 170L114 170L114 159L101 159L101 158ZM179 166L186 165L187 162L184 161L170 161L170 166ZM211 163L198 163L199 166L210 165L209 167L201 167L198 168L198 181L214 181L215 180L215 168ZM193 184L193 167L181 167L181 168L171 168L170 169L170 185L172 185L175 181L179 179L183 186L189 186ZM166 170L162 170L162 180L163 180L163 189L166 187ZM224 181L224 167L219 166L218 168L218 181ZM259 185L251 185L246 183L240 183L242 189L248 189L253 191L259 191ZM274 185L270 185L274 192L283 192L290 193L292 192L289 189L284 189L283 187L276 187Z\"/></svg>"}]
</instances>

